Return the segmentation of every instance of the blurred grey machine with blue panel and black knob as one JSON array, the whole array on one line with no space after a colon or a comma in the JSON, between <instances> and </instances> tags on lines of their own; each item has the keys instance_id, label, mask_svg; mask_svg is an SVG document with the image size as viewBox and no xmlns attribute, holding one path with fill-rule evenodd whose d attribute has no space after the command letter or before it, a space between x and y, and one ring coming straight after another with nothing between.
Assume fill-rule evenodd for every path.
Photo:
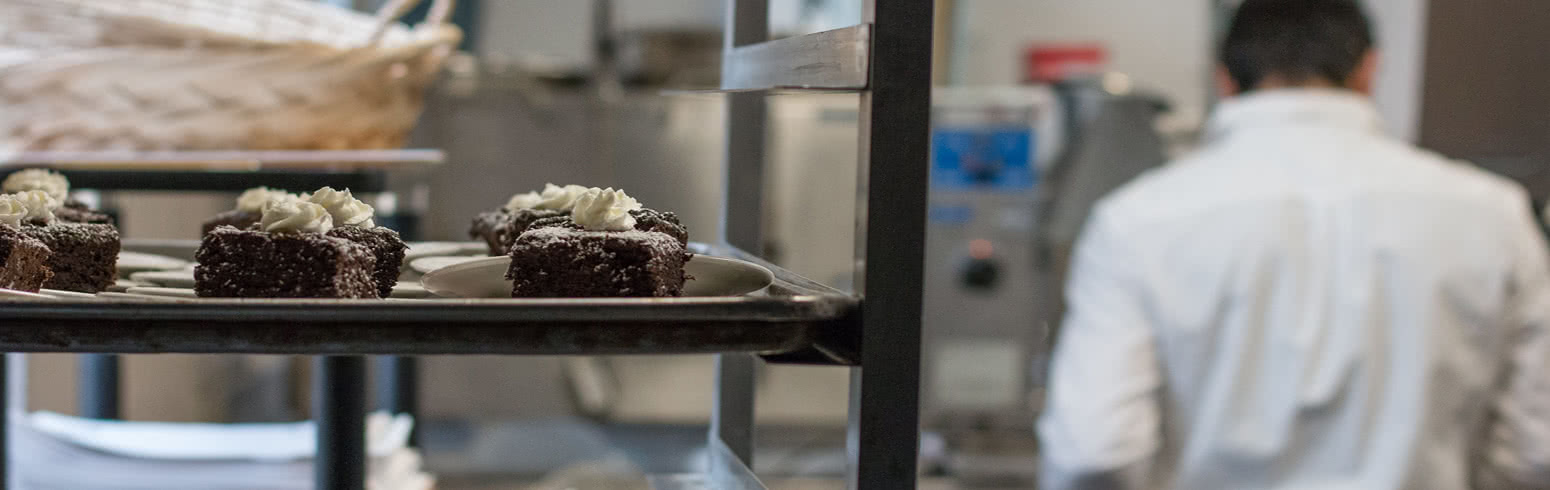
<instances>
[{"instance_id":1,"label":"blurred grey machine with blue panel and black knob","mask_svg":"<svg viewBox=\"0 0 1550 490\"><path fill-rule=\"evenodd\" d=\"M935 95L922 414L947 474L1034 476L1065 256L1097 198L1166 158L1166 104L1124 81Z\"/></svg>"}]
</instances>

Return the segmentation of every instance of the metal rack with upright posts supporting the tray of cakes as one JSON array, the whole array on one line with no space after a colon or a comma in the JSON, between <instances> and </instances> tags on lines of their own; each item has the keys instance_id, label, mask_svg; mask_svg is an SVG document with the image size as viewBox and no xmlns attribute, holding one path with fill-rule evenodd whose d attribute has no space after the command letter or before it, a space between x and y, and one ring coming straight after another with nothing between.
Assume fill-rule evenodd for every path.
<instances>
[{"instance_id":1,"label":"metal rack with upright posts supporting the tray of cakes","mask_svg":"<svg viewBox=\"0 0 1550 490\"><path fill-rule=\"evenodd\" d=\"M914 488L932 6L868 0L860 25L769 40L767 0L727 0L725 236L701 251L769 267L766 295L16 302L0 305L0 350L321 355L318 488L364 488L361 355L719 354L710 470L656 481L674 488L764 488L750 470L761 358L848 366L848 485ZM804 90L860 95L856 293L758 259L764 98Z\"/></svg>"}]
</instances>

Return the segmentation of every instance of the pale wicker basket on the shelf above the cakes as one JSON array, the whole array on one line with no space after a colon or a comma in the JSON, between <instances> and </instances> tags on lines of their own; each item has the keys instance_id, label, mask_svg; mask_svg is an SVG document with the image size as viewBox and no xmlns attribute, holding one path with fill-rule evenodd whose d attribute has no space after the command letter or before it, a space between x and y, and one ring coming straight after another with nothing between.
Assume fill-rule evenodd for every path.
<instances>
[{"instance_id":1,"label":"pale wicker basket on the shelf above the cakes","mask_svg":"<svg viewBox=\"0 0 1550 490\"><path fill-rule=\"evenodd\" d=\"M401 147L462 39L434 0L5 0L0 160L23 150Z\"/></svg>"}]
</instances>

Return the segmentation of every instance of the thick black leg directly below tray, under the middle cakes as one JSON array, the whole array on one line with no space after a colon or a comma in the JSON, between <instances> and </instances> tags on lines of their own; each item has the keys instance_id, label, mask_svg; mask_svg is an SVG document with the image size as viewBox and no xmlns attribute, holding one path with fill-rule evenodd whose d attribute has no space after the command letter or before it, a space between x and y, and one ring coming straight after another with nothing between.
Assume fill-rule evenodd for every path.
<instances>
[{"instance_id":1,"label":"thick black leg directly below tray, under the middle cakes","mask_svg":"<svg viewBox=\"0 0 1550 490\"><path fill-rule=\"evenodd\" d=\"M315 361L313 417L318 420L318 490L366 488L366 358L329 355Z\"/></svg>"}]
</instances>

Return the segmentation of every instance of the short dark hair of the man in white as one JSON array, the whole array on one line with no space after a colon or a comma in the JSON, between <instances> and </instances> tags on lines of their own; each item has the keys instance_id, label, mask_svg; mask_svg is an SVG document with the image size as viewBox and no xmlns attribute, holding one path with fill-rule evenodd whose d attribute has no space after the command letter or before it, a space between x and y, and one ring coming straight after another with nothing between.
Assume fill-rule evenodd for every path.
<instances>
[{"instance_id":1,"label":"short dark hair of the man in white","mask_svg":"<svg viewBox=\"0 0 1550 490\"><path fill-rule=\"evenodd\" d=\"M1221 64L1242 91L1269 76L1345 84L1372 45L1372 23L1355 0L1245 0Z\"/></svg>"}]
</instances>

